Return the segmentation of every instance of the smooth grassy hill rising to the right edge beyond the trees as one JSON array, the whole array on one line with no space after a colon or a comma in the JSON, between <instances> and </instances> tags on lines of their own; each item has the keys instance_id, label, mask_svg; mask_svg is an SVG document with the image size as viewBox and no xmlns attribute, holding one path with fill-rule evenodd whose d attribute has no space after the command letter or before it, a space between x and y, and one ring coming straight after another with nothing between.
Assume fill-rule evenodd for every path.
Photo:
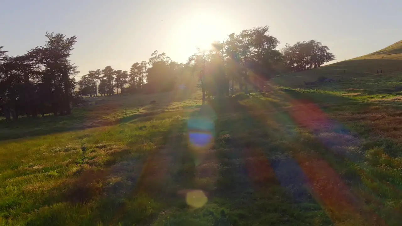
<instances>
[{"instance_id":1,"label":"smooth grassy hill rising to the right edge beyond the trees","mask_svg":"<svg viewBox=\"0 0 402 226\"><path fill-rule=\"evenodd\" d=\"M338 79L377 74L377 71L379 74L381 71L402 73L402 40L367 55L281 76L273 79L273 82L282 86L298 86L304 84L304 81L315 81L320 76Z\"/></svg>"}]
</instances>

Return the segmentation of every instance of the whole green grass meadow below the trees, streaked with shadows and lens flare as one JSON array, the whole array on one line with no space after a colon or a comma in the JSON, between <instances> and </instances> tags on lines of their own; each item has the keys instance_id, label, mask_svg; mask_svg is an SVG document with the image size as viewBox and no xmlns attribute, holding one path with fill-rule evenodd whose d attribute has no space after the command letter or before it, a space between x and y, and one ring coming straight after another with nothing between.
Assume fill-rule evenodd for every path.
<instances>
[{"instance_id":1,"label":"whole green grass meadow below the trees, streaked with shadows and lens flare","mask_svg":"<svg viewBox=\"0 0 402 226\"><path fill-rule=\"evenodd\" d=\"M384 77L2 122L0 225L399 225L402 108Z\"/></svg>"}]
</instances>

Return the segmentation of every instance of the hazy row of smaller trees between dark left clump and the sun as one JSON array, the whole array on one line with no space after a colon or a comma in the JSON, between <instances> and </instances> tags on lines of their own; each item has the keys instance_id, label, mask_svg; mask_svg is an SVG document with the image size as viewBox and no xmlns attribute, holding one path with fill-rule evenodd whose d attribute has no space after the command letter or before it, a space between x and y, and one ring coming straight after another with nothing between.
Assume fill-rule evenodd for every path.
<instances>
[{"instance_id":1,"label":"hazy row of smaller trees between dark left clump and the sun","mask_svg":"<svg viewBox=\"0 0 402 226\"><path fill-rule=\"evenodd\" d=\"M187 71L189 72L189 71ZM136 62L131 65L130 71L114 70L111 66L105 69L89 71L78 81L79 93L83 96L97 97L100 95L114 95L123 92L166 92L189 79L185 71L185 64L170 60L166 53L155 50L148 62Z\"/></svg>"}]
</instances>

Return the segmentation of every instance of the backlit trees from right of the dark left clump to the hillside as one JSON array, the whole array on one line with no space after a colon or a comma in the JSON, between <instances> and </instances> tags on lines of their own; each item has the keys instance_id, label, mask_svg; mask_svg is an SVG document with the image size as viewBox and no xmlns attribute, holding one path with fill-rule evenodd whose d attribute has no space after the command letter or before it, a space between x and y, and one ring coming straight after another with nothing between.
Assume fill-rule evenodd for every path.
<instances>
[{"instance_id":1,"label":"backlit trees from right of the dark left clump to the hillside","mask_svg":"<svg viewBox=\"0 0 402 226\"><path fill-rule=\"evenodd\" d=\"M148 62L133 64L130 71L89 71L79 82L82 95L90 97L120 92L163 92L172 90L189 75L197 74L199 87L206 95L229 95L234 84L248 92L249 88L263 89L263 82L284 72L316 68L334 60L328 47L311 40L286 44L280 51L279 40L268 34L269 27L245 29L215 42L206 51L199 50L186 64L170 60L166 53L154 51ZM231 84L230 84L231 83ZM183 84L182 84L183 85ZM115 92L116 90L116 92Z\"/></svg>"}]
</instances>

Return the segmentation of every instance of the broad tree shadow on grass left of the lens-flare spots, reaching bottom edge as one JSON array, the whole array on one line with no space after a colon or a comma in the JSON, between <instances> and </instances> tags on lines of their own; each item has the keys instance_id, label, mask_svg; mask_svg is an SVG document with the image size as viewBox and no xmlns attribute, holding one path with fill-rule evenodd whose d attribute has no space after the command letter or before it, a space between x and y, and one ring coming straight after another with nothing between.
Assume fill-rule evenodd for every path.
<instances>
[{"instance_id":1,"label":"broad tree shadow on grass left of the lens-flare spots, reaching bottom edge","mask_svg":"<svg viewBox=\"0 0 402 226\"><path fill-rule=\"evenodd\" d=\"M172 203L185 205L179 191L191 187L194 178L194 160L187 151L185 129L186 121L178 119L172 120L168 131L149 134L162 139L144 157L133 156L133 150L110 152L105 147L112 154L111 160L96 167L90 162L77 162L77 166L83 167L32 208L62 203L59 205L68 209L88 211L87 215L76 218L74 224L132 225L150 223ZM49 209L36 213L27 225L51 222L65 225L69 217Z\"/></svg>"}]
</instances>

